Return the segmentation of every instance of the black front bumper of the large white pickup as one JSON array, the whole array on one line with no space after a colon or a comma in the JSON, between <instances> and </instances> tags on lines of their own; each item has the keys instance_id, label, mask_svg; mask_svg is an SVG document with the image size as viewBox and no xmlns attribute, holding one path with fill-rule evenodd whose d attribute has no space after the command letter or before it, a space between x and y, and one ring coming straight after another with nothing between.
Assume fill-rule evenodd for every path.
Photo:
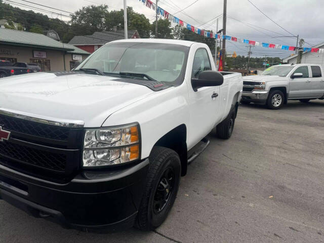
<instances>
[{"instance_id":1,"label":"black front bumper of the large white pickup","mask_svg":"<svg viewBox=\"0 0 324 243\"><path fill-rule=\"evenodd\" d=\"M135 222L148 165L146 158L132 167L85 171L67 184L0 165L0 199L65 228L128 228Z\"/></svg>"}]
</instances>

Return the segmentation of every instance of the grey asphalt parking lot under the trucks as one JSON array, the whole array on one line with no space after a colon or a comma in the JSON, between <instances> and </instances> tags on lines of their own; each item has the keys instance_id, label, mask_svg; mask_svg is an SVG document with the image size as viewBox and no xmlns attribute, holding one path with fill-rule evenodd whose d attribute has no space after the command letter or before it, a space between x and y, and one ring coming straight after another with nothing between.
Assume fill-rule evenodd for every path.
<instances>
[{"instance_id":1,"label":"grey asphalt parking lot under the trucks","mask_svg":"<svg viewBox=\"0 0 324 243\"><path fill-rule=\"evenodd\" d=\"M0 201L0 242L324 242L324 101L241 105L210 140L155 232L66 230Z\"/></svg>"}]
</instances>

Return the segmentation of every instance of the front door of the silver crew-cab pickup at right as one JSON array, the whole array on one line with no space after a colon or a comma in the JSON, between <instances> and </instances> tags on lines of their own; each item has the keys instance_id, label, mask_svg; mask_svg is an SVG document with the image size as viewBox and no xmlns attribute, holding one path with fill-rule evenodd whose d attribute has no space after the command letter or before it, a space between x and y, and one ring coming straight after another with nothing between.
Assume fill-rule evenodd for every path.
<instances>
[{"instance_id":1,"label":"front door of the silver crew-cab pickup at right","mask_svg":"<svg viewBox=\"0 0 324 243\"><path fill-rule=\"evenodd\" d=\"M312 93L309 67L307 65L300 66L295 69L293 74L295 73L302 73L303 76L290 79L289 98L308 98Z\"/></svg>"}]
</instances>

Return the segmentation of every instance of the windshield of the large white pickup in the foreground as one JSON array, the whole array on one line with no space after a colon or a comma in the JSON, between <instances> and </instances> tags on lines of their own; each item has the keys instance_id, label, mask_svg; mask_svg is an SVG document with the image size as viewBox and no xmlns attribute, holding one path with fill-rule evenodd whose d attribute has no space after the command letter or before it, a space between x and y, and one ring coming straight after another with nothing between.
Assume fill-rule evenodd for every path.
<instances>
[{"instance_id":1,"label":"windshield of the large white pickup in the foreground","mask_svg":"<svg viewBox=\"0 0 324 243\"><path fill-rule=\"evenodd\" d=\"M160 43L124 42L103 46L74 70L182 83L189 48ZM141 75L132 75L134 73ZM182 80L181 80L182 79Z\"/></svg>"}]
</instances>

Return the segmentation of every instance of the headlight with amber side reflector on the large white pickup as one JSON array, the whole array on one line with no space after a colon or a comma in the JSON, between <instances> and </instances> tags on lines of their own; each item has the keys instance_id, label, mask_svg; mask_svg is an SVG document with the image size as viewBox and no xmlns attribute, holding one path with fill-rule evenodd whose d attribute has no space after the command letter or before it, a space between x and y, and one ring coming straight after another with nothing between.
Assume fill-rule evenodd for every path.
<instances>
[{"instance_id":1,"label":"headlight with amber side reflector on the large white pickup","mask_svg":"<svg viewBox=\"0 0 324 243\"><path fill-rule=\"evenodd\" d=\"M86 130L83 166L109 166L139 158L139 128L129 125Z\"/></svg>"}]
</instances>

